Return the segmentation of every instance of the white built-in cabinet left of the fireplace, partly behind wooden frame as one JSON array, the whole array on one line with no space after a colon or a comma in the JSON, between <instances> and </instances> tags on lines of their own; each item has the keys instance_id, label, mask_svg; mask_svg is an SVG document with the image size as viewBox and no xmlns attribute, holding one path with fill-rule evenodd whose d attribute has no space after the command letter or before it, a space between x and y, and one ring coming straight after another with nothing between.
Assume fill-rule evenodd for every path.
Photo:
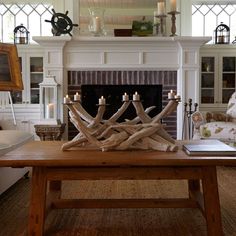
<instances>
[{"instance_id":1,"label":"white built-in cabinet left of the fireplace, partly behind wooden frame","mask_svg":"<svg viewBox=\"0 0 236 236\"><path fill-rule=\"evenodd\" d=\"M38 45L17 45L17 49L24 90L11 92L16 126L7 93L0 95L0 125L35 133L34 125L40 120L39 83L44 77L44 53Z\"/></svg>"}]
</instances>

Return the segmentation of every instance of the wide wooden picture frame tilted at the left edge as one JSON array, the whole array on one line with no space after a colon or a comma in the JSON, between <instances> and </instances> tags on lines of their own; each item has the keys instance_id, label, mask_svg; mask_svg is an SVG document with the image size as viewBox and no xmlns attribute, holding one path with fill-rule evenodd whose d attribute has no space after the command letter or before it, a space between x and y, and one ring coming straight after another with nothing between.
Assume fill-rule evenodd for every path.
<instances>
[{"instance_id":1,"label":"wide wooden picture frame tilted at the left edge","mask_svg":"<svg viewBox=\"0 0 236 236\"><path fill-rule=\"evenodd\" d=\"M0 91L23 90L20 61L14 44L0 43Z\"/></svg>"}]
</instances>

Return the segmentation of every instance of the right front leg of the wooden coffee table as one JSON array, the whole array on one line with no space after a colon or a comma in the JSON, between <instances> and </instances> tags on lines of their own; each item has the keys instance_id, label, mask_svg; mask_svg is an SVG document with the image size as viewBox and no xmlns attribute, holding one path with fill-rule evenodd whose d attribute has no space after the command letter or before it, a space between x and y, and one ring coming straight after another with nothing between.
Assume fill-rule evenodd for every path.
<instances>
[{"instance_id":1,"label":"right front leg of the wooden coffee table","mask_svg":"<svg viewBox=\"0 0 236 236\"><path fill-rule=\"evenodd\" d=\"M202 174L208 236L223 236L216 167L202 167Z\"/></svg>"}]
</instances>

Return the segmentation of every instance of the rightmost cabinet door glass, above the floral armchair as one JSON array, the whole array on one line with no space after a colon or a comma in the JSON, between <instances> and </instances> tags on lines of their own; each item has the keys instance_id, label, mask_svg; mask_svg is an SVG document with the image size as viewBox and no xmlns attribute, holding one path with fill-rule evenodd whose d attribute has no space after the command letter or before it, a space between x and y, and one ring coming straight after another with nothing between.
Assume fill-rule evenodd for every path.
<instances>
[{"instance_id":1,"label":"rightmost cabinet door glass, above the floral armchair","mask_svg":"<svg viewBox=\"0 0 236 236\"><path fill-rule=\"evenodd\" d=\"M235 57L222 58L222 103L228 103L235 91Z\"/></svg>"}]
</instances>

